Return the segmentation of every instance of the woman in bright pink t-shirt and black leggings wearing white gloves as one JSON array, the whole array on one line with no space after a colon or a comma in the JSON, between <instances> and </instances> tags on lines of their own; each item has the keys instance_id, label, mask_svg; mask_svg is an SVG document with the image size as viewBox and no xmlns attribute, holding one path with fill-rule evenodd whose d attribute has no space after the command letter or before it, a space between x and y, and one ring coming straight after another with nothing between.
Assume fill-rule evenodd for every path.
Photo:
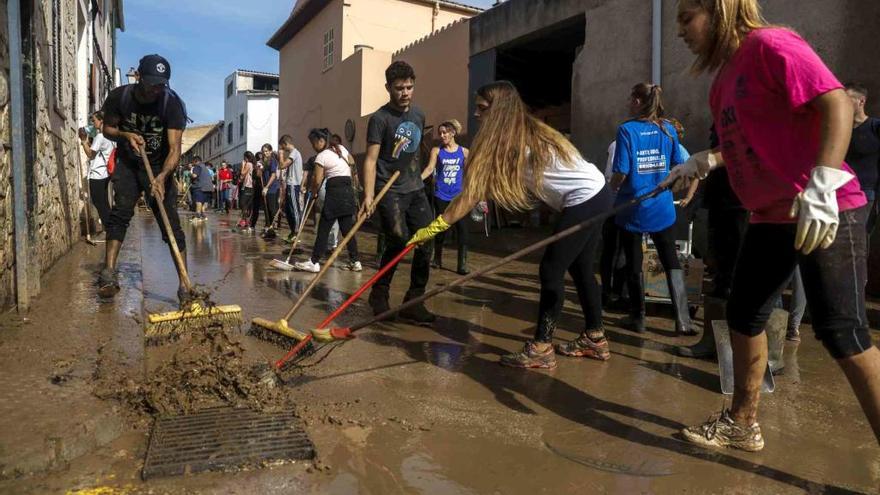
<instances>
[{"instance_id":1,"label":"woman in bright pink t-shirt and black leggings wearing white gloves","mask_svg":"<svg viewBox=\"0 0 880 495\"><path fill-rule=\"evenodd\" d=\"M767 25L757 0L681 0L679 36L714 72L718 146L673 169L681 187L727 167L751 212L727 305L735 391L730 410L685 428L690 442L758 451L764 326L800 266L816 337L837 360L880 438L880 352L865 315L865 196L844 163L852 105L797 33Z\"/></svg>"}]
</instances>

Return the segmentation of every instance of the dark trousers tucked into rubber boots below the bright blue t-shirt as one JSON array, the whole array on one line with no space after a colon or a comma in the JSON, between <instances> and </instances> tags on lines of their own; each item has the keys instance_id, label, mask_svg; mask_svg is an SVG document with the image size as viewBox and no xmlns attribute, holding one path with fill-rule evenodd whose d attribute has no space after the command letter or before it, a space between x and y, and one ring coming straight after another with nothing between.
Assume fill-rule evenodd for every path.
<instances>
[{"instance_id":1,"label":"dark trousers tucked into rubber boots below the bright blue t-shirt","mask_svg":"<svg viewBox=\"0 0 880 495\"><path fill-rule=\"evenodd\" d=\"M687 314L687 303L685 302L684 308L681 308L680 304L676 304L676 301L679 300L677 296L684 295L679 294L684 290L684 287L679 287L680 284L674 283L675 277L681 275L681 263L678 261L678 253L675 250L675 225L660 232L651 232L648 235L654 241L660 264L663 265L663 270L666 272L666 282L669 287L669 296L673 301L672 309L675 312L676 321L681 321L683 326L689 326L690 315ZM626 283L629 289L630 315L635 318L644 318L645 284L642 280L642 233L621 229L620 239L623 244L623 252L626 255ZM673 271L676 272L673 274Z\"/></svg>"}]
</instances>

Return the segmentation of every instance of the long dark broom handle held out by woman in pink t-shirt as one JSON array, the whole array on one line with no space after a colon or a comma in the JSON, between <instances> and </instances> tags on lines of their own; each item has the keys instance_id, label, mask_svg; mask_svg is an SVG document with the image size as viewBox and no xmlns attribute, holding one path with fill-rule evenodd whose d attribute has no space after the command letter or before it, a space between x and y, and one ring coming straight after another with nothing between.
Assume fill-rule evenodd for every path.
<instances>
[{"instance_id":1,"label":"long dark broom handle held out by woman in pink t-shirt","mask_svg":"<svg viewBox=\"0 0 880 495\"><path fill-rule=\"evenodd\" d=\"M590 227L598 222L604 222L606 219L620 213L621 211L623 211L627 208L630 208L632 206L635 206L635 205L641 203L642 201L645 201L646 199L653 198L665 190L666 190L665 187L657 187L653 191L649 192L648 194L645 194L643 196L639 196L637 198L633 198L633 199L627 201L626 203L622 203L618 206L615 206L614 208L612 208L612 209L610 209L600 215L596 215L592 218L588 218L588 219L584 220L583 222L578 223L576 225L573 225L573 226L571 226L571 227L569 227L569 228L567 228L557 234L554 234L554 235L552 235L552 236L550 236L540 242L536 242L535 244L532 244L531 246L520 249L519 251L517 251L517 252L515 252L515 253L513 253L513 254L511 254L501 260L498 260L495 263L492 263L492 264L487 265L483 268L480 268L479 270L473 271L470 274L465 275L463 277L457 278L454 281L450 282L449 284L447 284L443 287L438 287L432 291L429 291L429 292L422 294L419 297L416 297L415 299L410 299L409 301L401 304L400 306L398 306L396 308L390 309L390 310L385 311L384 313L380 313L370 319L363 320L359 323L356 323L355 325L350 327L351 331L354 332L355 330L360 330L361 328L372 325L373 323L376 323L377 321L382 321L385 318L388 318L389 316L397 314L398 312L400 312L406 308L415 306L416 304L420 304L420 303L424 302L426 299L430 299L430 298L436 296L437 294L446 292L449 289L463 285L475 277L479 277L480 275L484 275L484 274L491 272L492 270L494 270L502 265L505 265L507 263L510 263L511 261L522 258L523 256L525 256L529 253L535 252L538 249L541 249L541 248L547 246L548 244L552 244L552 243L558 241L559 239L562 239L564 237L568 237L571 234L574 234L575 232L581 231L581 230L583 230L587 227Z\"/></svg>"}]
</instances>

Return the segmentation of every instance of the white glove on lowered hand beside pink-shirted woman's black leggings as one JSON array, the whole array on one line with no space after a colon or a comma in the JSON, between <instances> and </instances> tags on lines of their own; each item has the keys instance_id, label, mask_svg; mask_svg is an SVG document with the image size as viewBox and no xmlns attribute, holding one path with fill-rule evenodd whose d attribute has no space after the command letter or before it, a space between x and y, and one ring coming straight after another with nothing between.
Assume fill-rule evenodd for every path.
<instances>
[{"instance_id":1,"label":"white glove on lowered hand beside pink-shirted woman's black leggings","mask_svg":"<svg viewBox=\"0 0 880 495\"><path fill-rule=\"evenodd\" d=\"M839 168L815 167L807 187L794 198L788 215L798 219L794 248L810 254L817 247L827 248L837 237L840 222L837 190L855 177Z\"/></svg>"}]
</instances>

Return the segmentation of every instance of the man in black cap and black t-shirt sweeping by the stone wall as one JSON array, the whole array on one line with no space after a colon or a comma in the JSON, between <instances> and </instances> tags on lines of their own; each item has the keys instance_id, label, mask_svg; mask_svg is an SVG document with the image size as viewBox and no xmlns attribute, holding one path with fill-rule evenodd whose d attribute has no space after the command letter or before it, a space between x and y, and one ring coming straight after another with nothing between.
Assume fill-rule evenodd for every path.
<instances>
[{"instance_id":1,"label":"man in black cap and black t-shirt sweeping by the stone wall","mask_svg":"<svg viewBox=\"0 0 880 495\"><path fill-rule=\"evenodd\" d=\"M113 172L114 205L107 223L107 254L98 277L98 294L110 298L119 292L116 262L135 204L141 193L149 198L159 225L162 219L156 201L162 201L174 231L177 246L186 260L186 239L177 216L177 185L172 180L180 162L180 145L186 127L186 107L171 88L171 65L159 55L140 60L137 83L118 87L104 100L104 135L117 142L116 169ZM146 151L155 180L150 183L140 149ZM162 239L167 243L165 229ZM175 264L176 266L176 264ZM179 275L179 274L178 274ZM186 296L183 283L177 291Z\"/></svg>"}]
</instances>

